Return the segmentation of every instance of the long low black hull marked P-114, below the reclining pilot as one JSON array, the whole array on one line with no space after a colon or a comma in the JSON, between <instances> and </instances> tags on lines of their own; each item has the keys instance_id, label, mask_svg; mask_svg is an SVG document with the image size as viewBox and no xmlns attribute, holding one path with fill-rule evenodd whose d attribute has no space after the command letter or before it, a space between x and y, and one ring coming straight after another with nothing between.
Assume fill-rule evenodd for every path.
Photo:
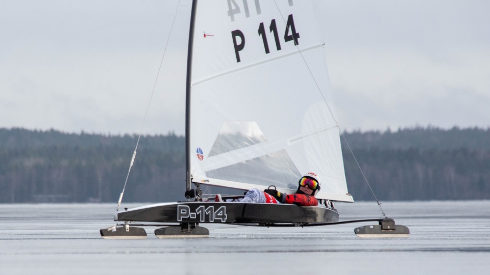
<instances>
[{"instance_id":1,"label":"long low black hull marked P-114, below the reclining pilot","mask_svg":"<svg viewBox=\"0 0 490 275\"><path fill-rule=\"evenodd\" d=\"M177 202L114 214L114 221L154 223L309 224L338 222L335 210L265 203Z\"/></svg>"}]
</instances>

